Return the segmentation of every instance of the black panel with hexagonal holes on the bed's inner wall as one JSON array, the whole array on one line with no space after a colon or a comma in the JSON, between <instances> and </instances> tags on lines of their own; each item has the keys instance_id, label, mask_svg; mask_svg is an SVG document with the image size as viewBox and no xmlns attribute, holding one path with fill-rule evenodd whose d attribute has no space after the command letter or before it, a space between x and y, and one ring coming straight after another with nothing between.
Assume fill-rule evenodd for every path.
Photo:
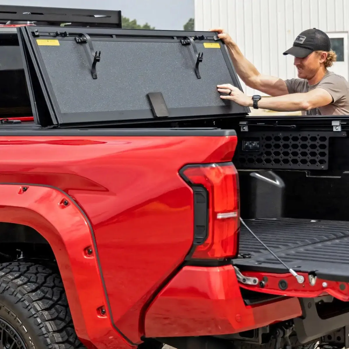
<instances>
[{"instance_id":1,"label":"black panel with hexagonal holes on the bed's inner wall","mask_svg":"<svg viewBox=\"0 0 349 349\"><path fill-rule=\"evenodd\" d=\"M328 168L329 138L342 132L242 132L233 159L238 168Z\"/></svg>"}]
</instances>

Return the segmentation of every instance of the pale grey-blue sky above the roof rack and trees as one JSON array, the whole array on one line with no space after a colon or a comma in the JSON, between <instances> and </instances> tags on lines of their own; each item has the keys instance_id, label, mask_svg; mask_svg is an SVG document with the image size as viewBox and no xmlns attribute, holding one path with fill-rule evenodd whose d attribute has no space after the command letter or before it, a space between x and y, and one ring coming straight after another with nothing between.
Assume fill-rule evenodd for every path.
<instances>
[{"instance_id":1,"label":"pale grey-blue sky above the roof rack and trees","mask_svg":"<svg viewBox=\"0 0 349 349\"><path fill-rule=\"evenodd\" d=\"M194 17L194 0L0 0L0 4L121 10L123 16L161 30L183 30Z\"/></svg>"}]
</instances>

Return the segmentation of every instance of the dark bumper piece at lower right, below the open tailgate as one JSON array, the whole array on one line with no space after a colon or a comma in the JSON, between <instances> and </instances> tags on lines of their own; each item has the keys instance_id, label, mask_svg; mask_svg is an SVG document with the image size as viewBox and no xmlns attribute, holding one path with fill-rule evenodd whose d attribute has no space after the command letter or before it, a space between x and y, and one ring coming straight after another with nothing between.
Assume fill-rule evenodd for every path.
<instances>
[{"instance_id":1,"label":"dark bumper piece at lower right, below the open tailgate","mask_svg":"<svg viewBox=\"0 0 349 349\"><path fill-rule=\"evenodd\" d=\"M307 343L349 324L349 312L328 319L321 319L313 298L299 298L301 318L295 318L295 331L300 343Z\"/></svg>"}]
</instances>

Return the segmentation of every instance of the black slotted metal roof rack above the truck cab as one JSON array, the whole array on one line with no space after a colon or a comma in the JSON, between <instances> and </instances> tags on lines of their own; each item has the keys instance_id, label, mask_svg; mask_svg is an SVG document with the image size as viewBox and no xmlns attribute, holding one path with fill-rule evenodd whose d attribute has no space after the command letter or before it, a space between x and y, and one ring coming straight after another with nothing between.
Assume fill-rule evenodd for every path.
<instances>
[{"instance_id":1,"label":"black slotted metal roof rack above the truck cab","mask_svg":"<svg viewBox=\"0 0 349 349\"><path fill-rule=\"evenodd\" d=\"M121 28L121 11L0 5L0 24Z\"/></svg>"}]
</instances>

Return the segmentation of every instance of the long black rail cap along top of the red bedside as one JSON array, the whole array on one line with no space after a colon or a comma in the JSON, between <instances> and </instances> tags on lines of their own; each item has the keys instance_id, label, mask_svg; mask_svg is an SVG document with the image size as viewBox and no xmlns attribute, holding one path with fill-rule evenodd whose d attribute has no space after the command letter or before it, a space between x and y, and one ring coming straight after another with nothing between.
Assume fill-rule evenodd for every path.
<instances>
[{"instance_id":1,"label":"long black rail cap along top of the red bedside","mask_svg":"<svg viewBox=\"0 0 349 349\"><path fill-rule=\"evenodd\" d=\"M229 137L236 136L235 130L215 128L118 128L118 129L27 129L16 126L0 128L0 136L119 136L119 137L152 137L152 136L202 136L202 137Z\"/></svg>"}]
</instances>

